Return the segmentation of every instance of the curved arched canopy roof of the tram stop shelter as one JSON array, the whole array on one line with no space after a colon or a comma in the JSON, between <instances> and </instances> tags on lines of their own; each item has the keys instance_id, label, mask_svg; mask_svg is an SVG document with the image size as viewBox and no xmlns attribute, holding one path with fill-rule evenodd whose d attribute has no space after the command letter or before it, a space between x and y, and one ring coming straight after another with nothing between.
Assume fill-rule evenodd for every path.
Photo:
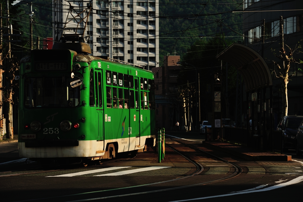
<instances>
[{"instance_id":1,"label":"curved arched canopy roof of the tram stop shelter","mask_svg":"<svg viewBox=\"0 0 303 202\"><path fill-rule=\"evenodd\" d=\"M231 63L241 73L246 91L272 85L271 73L264 59L252 48L240 43L233 43L217 59Z\"/></svg>"}]
</instances>

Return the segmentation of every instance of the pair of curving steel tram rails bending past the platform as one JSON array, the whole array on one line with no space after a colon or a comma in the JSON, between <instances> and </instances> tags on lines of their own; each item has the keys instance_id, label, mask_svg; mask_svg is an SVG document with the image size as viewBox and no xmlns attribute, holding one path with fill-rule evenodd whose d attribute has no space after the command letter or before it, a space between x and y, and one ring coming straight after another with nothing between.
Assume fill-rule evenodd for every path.
<instances>
[{"instance_id":1,"label":"pair of curving steel tram rails bending past the platform","mask_svg":"<svg viewBox=\"0 0 303 202\"><path fill-rule=\"evenodd\" d=\"M133 193L125 193L125 194L119 194L119 195L109 195L109 196L103 196L103 197L85 197L83 199L78 199L78 200L60 200L60 201L64 201L64 202L80 202L80 201L90 201L90 200L102 200L102 199L110 199L110 198L116 198L116 197L127 197L127 196L132 196L132 195L140 195L140 194L148 194L148 193L157 193L157 192L163 192L163 191L171 191L171 190L177 190L177 189L183 189L183 188L188 188L188 187L196 187L196 186L201 186L201 185L207 185L207 184L211 184L211 183L216 183L216 182L221 182L223 180L228 180L231 179L235 176L238 176L241 174L242 169L240 166L238 166L235 163L229 162L225 159L222 159L218 156L215 156L209 152L206 152L202 149L199 149L198 147L195 146L191 146L188 145L184 142L178 141L176 139L172 139L175 142L178 142L180 144L183 144L189 148L198 150L200 152L203 152L209 156L212 156L222 162L228 163L229 165L231 165L233 168L235 168L235 171L225 177L222 177L220 179L216 179L216 180L211 180L211 181L207 181L207 182L201 182L201 183L195 183L195 184L191 184L191 185L186 185L186 186L178 186L178 187L171 187L171 188L166 188L166 189L155 189L155 190L149 190L149 191L143 191L143 192L133 192ZM203 172L204 167L199 163L196 162L195 160L191 159L190 157L182 154L182 152L179 152L177 149L173 148L172 146L169 146L168 144L165 144L165 146L169 147L170 149L172 149L173 151L177 152L178 154L180 154L181 156L183 156L185 159L187 159L188 161L190 161L191 163L193 163L196 166L196 171L194 173L191 173L190 175L187 176L183 176L180 178L175 178L173 180L167 180L167 181L162 181L162 182L156 182L156 183L150 183L150 184L143 184L143 185L136 185L136 186L132 186L132 187L121 187L121 188L117 188L117 189L110 189L110 190L100 190L100 191L94 191L94 192L86 192L86 193L79 193L79 194L71 194L71 195L65 195L65 196L58 196L58 197L51 197L51 198L43 198L43 200L51 200L54 198L58 198L58 199L64 199L65 197L80 197L80 196L85 196L85 195L92 195L92 194L98 194L98 193L106 193L108 192L110 194L111 191L116 192L118 190L126 190L126 189L133 189L133 188L138 188L138 187L143 187L143 186L151 186L151 185L157 185L157 184L161 184L161 183L168 183L168 182L173 182L176 180L183 180L185 178L191 177L191 176L195 176L198 175L200 173ZM129 191L128 191L129 192ZM24 200L24 201L35 201L35 200L42 200L42 199L33 199L33 200ZM21 201L19 201L21 202Z\"/></svg>"}]
</instances>

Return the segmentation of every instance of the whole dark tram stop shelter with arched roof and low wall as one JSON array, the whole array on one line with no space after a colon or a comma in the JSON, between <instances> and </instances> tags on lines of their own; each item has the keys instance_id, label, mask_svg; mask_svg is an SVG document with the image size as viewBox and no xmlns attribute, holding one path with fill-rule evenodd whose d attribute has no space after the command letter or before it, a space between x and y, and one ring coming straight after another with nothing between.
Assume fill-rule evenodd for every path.
<instances>
[{"instance_id":1,"label":"whole dark tram stop shelter with arched roof and low wall","mask_svg":"<svg viewBox=\"0 0 303 202\"><path fill-rule=\"evenodd\" d=\"M224 128L225 139L273 151L273 85L267 63L255 50L240 43L233 43L216 58L234 66L240 72L246 87L246 129ZM268 88L269 99L266 99Z\"/></svg>"}]
</instances>

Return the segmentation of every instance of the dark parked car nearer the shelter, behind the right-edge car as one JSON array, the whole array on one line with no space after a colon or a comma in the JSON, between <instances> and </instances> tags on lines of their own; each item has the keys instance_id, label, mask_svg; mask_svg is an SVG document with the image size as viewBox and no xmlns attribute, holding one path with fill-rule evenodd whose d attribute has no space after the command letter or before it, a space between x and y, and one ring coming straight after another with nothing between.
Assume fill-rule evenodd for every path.
<instances>
[{"instance_id":1,"label":"dark parked car nearer the shelter, behind the right-edge car","mask_svg":"<svg viewBox=\"0 0 303 202\"><path fill-rule=\"evenodd\" d=\"M277 130L283 132L283 149L296 149L296 135L302 123L303 116L284 116L278 124Z\"/></svg>"}]
</instances>

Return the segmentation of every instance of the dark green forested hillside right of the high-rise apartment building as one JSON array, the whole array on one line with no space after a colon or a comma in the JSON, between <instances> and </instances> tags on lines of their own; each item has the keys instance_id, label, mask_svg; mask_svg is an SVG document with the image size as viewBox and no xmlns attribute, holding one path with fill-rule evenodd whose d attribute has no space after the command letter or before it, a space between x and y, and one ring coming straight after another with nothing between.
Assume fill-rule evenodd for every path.
<instances>
[{"instance_id":1,"label":"dark green forested hillside right of the high-rise apartment building","mask_svg":"<svg viewBox=\"0 0 303 202\"><path fill-rule=\"evenodd\" d=\"M181 55L182 58L195 41L220 37L222 29L230 40L242 41L239 35L224 24L241 33L241 12L229 11L242 9L243 0L159 0L159 2L160 62L164 55L175 55L175 50L176 55ZM221 24L221 21L224 24ZM199 35L205 37L201 39ZM175 48L172 49L175 44Z\"/></svg>"}]
</instances>

